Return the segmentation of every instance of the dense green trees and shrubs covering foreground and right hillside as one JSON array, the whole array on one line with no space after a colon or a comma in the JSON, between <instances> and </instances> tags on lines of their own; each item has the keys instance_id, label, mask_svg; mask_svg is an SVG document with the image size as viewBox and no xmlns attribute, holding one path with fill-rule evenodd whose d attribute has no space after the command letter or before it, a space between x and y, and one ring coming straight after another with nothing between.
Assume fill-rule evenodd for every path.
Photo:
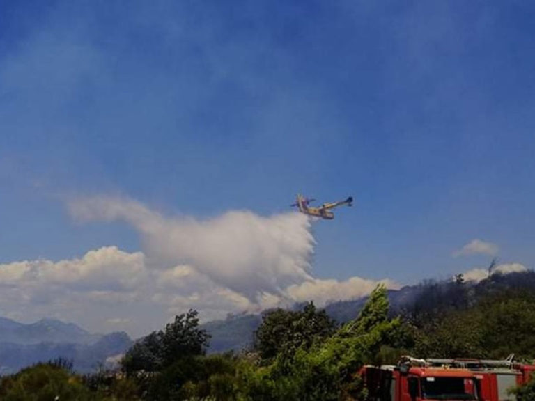
<instances>
[{"instance_id":1,"label":"dense green trees and shrubs covering foreground and right hillside","mask_svg":"<svg viewBox=\"0 0 535 401\"><path fill-rule=\"evenodd\" d=\"M209 336L190 310L139 340L121 372L78 376L48 363L4 377L2 400L359 400L358 371L401 354L517 359L535 357L534 273L494 274L474 285L428 282L392 311L376 288L354 317L336 324L312 303L270 310L254 344L206 355ZM516 391L535 400L535 383Z\"/></svg>"}]
</instances>

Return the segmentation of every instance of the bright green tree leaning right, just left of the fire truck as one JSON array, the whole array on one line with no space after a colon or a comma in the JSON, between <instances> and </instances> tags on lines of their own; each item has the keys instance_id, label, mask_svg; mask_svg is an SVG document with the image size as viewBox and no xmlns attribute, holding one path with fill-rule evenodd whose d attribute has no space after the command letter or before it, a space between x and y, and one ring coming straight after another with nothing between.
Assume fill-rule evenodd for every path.
<instances>
[{"instance_id":1,"label":"bright green tree leaning right, just left of the fire truck","mask_svg":"<svg viewBox=\"0 0 535 401\"><path fill-rule=\"evenodd\" d=\"M333 336L298 347L257 370L243 370L247 400L355 400L362 396L359 369L384 345L396 345L403 324L388 317L386 288L372 292L359 316Z\"/></svg>"}]
</instances>

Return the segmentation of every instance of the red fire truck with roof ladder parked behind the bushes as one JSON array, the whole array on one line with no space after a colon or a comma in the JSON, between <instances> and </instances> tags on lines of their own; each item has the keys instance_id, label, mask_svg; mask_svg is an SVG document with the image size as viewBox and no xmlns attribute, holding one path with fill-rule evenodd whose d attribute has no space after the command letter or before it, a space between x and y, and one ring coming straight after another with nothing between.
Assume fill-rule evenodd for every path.
<instances>
[{"instance_id":1,"label":"red fire truck with roof ladder parked behind the bushes","mask_svg":"<svg viewBox=\"0 0 535 401\"><path fill-rule=\"evenodd\" d=\"M415 359L366 366L361 375L370 401L514 400L508 390L526 383L535 365L504 360Z\"/></svg>"}]
</instances>

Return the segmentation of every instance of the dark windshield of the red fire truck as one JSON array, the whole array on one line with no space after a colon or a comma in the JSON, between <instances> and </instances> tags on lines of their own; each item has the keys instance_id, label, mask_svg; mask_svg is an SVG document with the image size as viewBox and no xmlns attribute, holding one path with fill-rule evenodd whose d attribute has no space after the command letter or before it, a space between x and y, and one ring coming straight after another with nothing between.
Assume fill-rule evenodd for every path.
<instances>
[{"instance_id":1,"label":"dark windshield of the red fire truck","mask_svg":"<svg viewBox=\"0 0 535 401\"><path fill-rule=\"evenodd\" d=\"M469 377L422 377L422 398L431 400L476 400L476 384Z\"/></svg>"}]
</instances>

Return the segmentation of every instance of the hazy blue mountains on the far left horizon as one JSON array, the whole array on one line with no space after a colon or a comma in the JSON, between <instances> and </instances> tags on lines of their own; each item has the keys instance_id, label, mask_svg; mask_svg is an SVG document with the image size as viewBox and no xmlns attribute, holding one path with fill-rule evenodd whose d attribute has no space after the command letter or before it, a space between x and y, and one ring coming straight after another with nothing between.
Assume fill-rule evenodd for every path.
<instances>
[{"instance_id":1,"label":"hazy blue mountains on the far left horizon","mask_svg":"<svg viewBox=\"0 0 535 401\"><path fill-rule=\"evenodd\" d=\"M130 346L124 332L93 334L55 319L24 324L0 317L0 375L57 358L72 361L77 372L91 372Z\"/></svg>"}]
</instances>

